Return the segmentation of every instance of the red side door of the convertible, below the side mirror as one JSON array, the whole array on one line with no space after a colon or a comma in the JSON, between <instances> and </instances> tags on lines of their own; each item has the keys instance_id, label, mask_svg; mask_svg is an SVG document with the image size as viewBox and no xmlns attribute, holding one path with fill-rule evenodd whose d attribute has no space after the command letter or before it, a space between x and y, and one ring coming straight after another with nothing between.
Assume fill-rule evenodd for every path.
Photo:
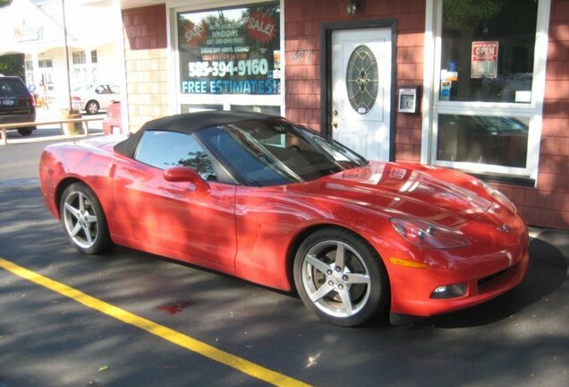
<instances>
[{"instance_id":1,"label":"red side door of the convertible, below the side mirror","mask_svg":"<svg viewBox=\"0 0 569 387\"><path fill-rule=\"evenodd\" d=\"M234 185L212 184L200 192L119 156L113 193L107 220L115 243L234 274Z\"/></svg>"}]
</instances>

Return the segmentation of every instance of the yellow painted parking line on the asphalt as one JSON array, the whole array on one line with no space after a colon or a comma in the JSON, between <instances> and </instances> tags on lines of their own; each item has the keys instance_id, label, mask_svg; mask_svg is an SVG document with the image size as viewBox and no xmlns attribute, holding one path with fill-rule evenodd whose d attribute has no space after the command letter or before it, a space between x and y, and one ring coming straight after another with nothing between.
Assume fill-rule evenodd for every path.
<instances>
[{"instance_id":1,"label":"yellow painted parking line on the asphalt","mask_svg":"<svg viewBox=\"0 0 569 387\"><path fill-rule=\"evenodd\" d=\"M6 261L1 257L0 267L6 271L12 272L24 280L30 280L31 282L34 282L44 288L48 288L49 290L53 290L64 297L72 298L74 301L82 305L89 306L98 312L109 315L116 320L131 324L141 330L148 331L164 340L189 349L201 356L208 357L218 363L224 364L225 366L230 366L243 374L249 374L263 382L284 387L309 386L309 384L293 379L285 374L279 374L242 357L237 357L222 349L210 346L203 341L193 339L179 331L174 331L164 325L151 322L150 320L136 314L127 312L118 306L111 305L105 301L99 300L98 298L91 297L88 294L83 293L81 290L72 288L55 280L50 280L35 271L30 271L16 263Z\"/></svg>"}]
</instances>

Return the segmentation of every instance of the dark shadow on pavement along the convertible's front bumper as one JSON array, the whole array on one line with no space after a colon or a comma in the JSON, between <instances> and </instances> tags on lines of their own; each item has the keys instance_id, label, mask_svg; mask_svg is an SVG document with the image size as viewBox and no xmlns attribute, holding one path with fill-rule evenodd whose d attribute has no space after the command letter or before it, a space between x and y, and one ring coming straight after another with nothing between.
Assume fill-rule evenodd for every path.
<instances>
[{"instance_id":1,"label":"dark shadow on pavement along the convertible's front bumper","mask_svg":"<svg viewBox=\"0 0 569 387\"><path fill-rule=\"evenodd\" d=\"M568 280L569 257L558 246L562 250L565 250L564 247L569 247L569 234L563 231L546 230L538 237L531 238L530 267L525 279L517 288L484 304L422 320L413 324L412 328L475 327L512 318L514 314L520 313L531 305L537 311L543 309L544 305L549 302L548 297Z\"/></svg>"}]
</instances>

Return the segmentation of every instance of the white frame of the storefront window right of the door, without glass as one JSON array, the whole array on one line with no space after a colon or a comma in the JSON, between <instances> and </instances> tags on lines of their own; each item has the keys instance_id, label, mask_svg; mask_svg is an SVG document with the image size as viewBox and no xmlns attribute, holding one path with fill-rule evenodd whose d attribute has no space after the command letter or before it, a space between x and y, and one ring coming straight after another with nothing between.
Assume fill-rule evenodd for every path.
<instances>
[{"instance_id":1,"label":"white frame of the storefront window right of the door, without glass","mask_svg":"<svg viewBox=\"0 0 569 387\"><path fill-rule=\"evenodd\" d=\"M422 106L422 138L420 161L445 168L457 168L484 176L526 178L537 184L539 144L541 138L543 100L545 96L548 52L549 10L551 0L539 0L534 47L531 103L441 101L440 66L442 54L443 0L427 0L425 21L425 61ZM510 168L490 164L437 160L439 115L460 116L514 116L529 118L528 153L526 168Z\"/></svg>"}]
</instances>

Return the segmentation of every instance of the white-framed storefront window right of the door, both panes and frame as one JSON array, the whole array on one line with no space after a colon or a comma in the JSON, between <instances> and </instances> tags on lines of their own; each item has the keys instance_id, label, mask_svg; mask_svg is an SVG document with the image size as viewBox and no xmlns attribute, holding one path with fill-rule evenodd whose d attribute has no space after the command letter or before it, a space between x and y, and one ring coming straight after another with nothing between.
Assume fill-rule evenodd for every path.
<instances>
[{"instance_id":1,"label":"white-framed storefront window right of the door, both panes and frame","mask_svg":"<svg viewBox=\"0 0 569 387\"><path fill-rule=\"evenodd\" d=\"M535 184L550 0L427 0L424 162ZM434 34L429 34L432 29ZM429 57L430 56L430 57ZM432 83L430 83L432 82ZM432 101L432 102L431 102Z\"/></svg>"}]
</instances>

